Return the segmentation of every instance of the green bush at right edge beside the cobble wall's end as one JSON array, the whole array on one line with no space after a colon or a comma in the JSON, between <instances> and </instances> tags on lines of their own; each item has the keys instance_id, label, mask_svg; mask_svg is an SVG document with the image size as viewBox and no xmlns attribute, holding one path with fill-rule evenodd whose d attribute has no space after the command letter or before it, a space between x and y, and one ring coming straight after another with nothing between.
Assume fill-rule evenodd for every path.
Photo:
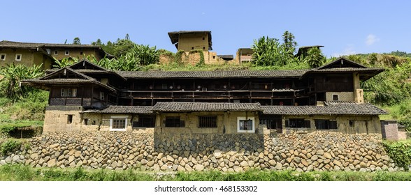
<instances>
[{"instance_id":1,"label":"green bush at right edge beside the cobble wall's end","mask_svg":"<svg viewBox=\"0 0 411 195\"><path fill-rule=\"evenodd\" d=\"M411 142L410 141L383 141L387 154L397 166L403 167L408 171L411 166Z\"/></svg>"}]
</instances>

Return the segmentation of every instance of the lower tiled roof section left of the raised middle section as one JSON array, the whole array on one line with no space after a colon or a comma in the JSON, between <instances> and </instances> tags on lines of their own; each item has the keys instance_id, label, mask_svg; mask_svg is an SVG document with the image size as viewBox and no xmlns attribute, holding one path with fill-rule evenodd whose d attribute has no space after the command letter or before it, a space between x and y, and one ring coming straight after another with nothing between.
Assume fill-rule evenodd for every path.
<instances>
[{"instance_id":1,"label":"lower tiled roof section left of the raised middle section","mask_svg":"<svg viewBox=\"0 0 411 195\"><path fill-rule=\"evenodd\" d=\"M82 113L101 113L101 114L152 114L152 107L136 106L108 106L105 109L89 109Z\"/></svg>"}]
</instances>

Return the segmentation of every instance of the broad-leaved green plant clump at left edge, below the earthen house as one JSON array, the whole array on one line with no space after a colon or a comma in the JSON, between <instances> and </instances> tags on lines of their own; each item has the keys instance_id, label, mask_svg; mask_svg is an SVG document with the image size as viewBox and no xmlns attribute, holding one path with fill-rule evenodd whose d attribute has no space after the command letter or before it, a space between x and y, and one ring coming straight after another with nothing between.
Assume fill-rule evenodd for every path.
<instances>
[{"instance_id":1,"label":"broad-leaved green plant clump at left edge, below the earthen house","mask_svg":"<svg viewBox=\"0 0 411 195\"><path fill-rule=\"evenodd\" d=\"M0 75L3 75L3 78L0 79L0 96L5 96L12 100L12 102L24 98L34 88L20 85L20 81L41 77L43 74L41 65L35 64L29 67L27 65L11 63L0 67Z\"/></svg>"}]
</instances>

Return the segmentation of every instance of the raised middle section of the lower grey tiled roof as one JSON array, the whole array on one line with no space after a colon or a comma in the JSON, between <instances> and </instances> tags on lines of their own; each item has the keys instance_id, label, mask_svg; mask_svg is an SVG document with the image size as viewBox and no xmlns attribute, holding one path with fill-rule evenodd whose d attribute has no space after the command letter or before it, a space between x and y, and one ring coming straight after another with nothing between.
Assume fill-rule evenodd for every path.
<instances>
[{"instance_id":1,"label":"raised middle section of the lower grey tiled roof","mask_svg":"<svg viewBox=\"0 0 411 195\"><path fill-rule=\"evenodd\" d=\"M259 103L158 102L152 111L262 111Z\"/></svg>"}]
</instances>

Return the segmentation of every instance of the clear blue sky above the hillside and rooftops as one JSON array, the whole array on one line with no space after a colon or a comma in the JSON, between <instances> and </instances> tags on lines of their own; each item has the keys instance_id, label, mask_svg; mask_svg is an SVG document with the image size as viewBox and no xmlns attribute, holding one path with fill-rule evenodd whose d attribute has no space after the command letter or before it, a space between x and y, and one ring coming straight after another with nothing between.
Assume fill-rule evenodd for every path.
<instances>
[{"instance_id":1,"label":"clear blue sky above the hillside and rooftops","mask_svg":"<svg viewBox=\"0 0 411 195\"><path fill-rule=\"evenodd\" d=\"M211 31L217 54L236 54L261 36L329 56L411 52L411 1L3 1L0 40L82 44L124 38L176 52L169 31Z\"/></svg>"}]
</instances>

